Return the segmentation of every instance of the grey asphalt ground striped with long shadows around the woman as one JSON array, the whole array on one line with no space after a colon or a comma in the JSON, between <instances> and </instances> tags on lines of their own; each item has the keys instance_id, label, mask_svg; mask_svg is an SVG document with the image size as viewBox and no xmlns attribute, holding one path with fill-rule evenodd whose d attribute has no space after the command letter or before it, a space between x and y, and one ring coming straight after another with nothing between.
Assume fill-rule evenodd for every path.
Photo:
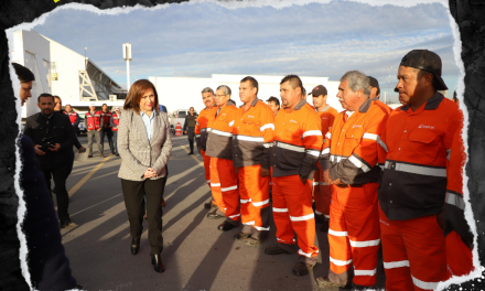
<instances>
[{"instance_id":1,"label":"grey asphalt ground striped with long shadows around the woman","mask_svg":"<svg viewBox=\"0 0 485 291\"><path fill-rule=\"evenodd\" d=\"M79 137L86 146L86 137ZM173 139L163 208L165 272L150 263L147 220L138 255L129 248L129 224L118 179L120 158L91 158L75 162L67 180L69 214L76 227L62 229L63 244L77 281L87 290L320 290L314 278L328 272L326 234L317 230L322 263L313 273L291 273L297 255L265 255L276 244L271 222L269 239L248 247L233 234L217 230L220 219L207 219L203 204L211 197L201 155L187 155L185 137ZM95 146L96 149L96 146ZM108 153L105 143L105 154ZM96 152L95 152L96 154ZM320 224L316 225L317 229ZM384 287L381 261L378 283Z\"/></svg>"}]
</instances>

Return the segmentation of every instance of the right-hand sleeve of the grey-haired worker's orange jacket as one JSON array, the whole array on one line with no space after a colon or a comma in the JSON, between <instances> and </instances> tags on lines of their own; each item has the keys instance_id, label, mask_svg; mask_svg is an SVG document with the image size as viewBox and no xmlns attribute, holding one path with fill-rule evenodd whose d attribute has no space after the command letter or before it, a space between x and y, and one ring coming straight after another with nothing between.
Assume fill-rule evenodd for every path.
<instances>
[{"instance_id":1,"label":"right-hand sleeve of the grey-haired worker's orange jacket","mask_svg":"<svg viewBox=\"0 0 485 291\"><path fill-rule=\"evenodd\" d=\"M358 174L369 172L377 164L380 134L388 116L382 110L374 110L371 114L367 127L360 132L360 143L347 159L342 159L330 169L328 176L332 180L341 179L343 183L354 181Z\"/></svg>"}]
</instances>

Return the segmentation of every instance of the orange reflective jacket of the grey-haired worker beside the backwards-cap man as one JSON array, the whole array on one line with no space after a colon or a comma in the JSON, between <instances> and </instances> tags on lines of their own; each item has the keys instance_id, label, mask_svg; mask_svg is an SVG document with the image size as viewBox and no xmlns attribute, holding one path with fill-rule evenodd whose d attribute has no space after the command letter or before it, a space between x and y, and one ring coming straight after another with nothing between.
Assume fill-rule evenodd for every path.
<instances>
[{"instance_id":1,"label":"orange reflective jacket of the grey-haired worker beside the backwards-cap man","mask_svg":"<svg viewBox=\"0 0 485 291\"><path fill-rule=\"evenodd\" d=\"M328 176L344 184L377 182L380 175L378 147L381 147L380 133L387 117L370 99L357 111L341 112L325 136L322 171L330 169Z\"/></svg>"}]
</instances>

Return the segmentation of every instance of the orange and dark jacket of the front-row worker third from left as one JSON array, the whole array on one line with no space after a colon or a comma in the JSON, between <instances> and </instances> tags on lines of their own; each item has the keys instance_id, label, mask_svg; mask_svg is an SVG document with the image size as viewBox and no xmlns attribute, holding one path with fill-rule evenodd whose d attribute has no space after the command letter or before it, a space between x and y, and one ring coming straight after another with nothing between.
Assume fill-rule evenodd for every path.
<instances>
[{"instance_id":1,"label":"orange and dark jacket of the front-row worker third from left","mask_svg":"<svg viewBox=\"0 0 485 291\"><path fill-rule=\"evenodd\" d=\"M274 114L267 104L256 98L247 111L239 108L233 127L234 166L261 164L269 170L273 131Z\"/></svg>"}]
</instances>

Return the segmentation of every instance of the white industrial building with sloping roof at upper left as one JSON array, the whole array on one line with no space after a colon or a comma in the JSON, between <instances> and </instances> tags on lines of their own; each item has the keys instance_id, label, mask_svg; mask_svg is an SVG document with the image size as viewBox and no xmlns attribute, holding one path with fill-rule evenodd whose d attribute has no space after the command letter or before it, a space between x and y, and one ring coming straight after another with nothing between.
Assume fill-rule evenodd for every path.
<instances>
[{"instance_id":1,"label":"white industrial building with sloping roof at upper left","mask_svg":"<svg viewBox=\"0 0 485 291\"><path fill-rule=\"evenodd\" d=\"M89 104L122 106L126 90L112 80L91 60L39 34L35 31L14 31L11 60L35 75L32 98L22 107L22 118L39 112L36 97L41 93L60 96L63 105L86 111ZM14 74L14 72L11 72ZM13 84L18 91L18 84Z\"/></svg>"}]
</instances>

